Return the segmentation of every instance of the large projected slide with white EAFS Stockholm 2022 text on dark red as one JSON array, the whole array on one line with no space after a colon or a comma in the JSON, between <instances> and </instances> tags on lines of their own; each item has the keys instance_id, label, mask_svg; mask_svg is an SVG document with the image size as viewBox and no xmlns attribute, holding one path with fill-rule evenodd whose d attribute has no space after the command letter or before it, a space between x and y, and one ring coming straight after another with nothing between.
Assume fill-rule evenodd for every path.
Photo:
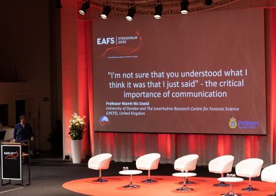
<instances>
[{"instance_id":1,"label":"large projected slide with white EAFS Stockholm 2022 text on dark red","mask_svg":"<svg viewBox=\"0 0 276 196\"><path fill-rule=\"evenodd\" d=\"M95 131L266 135L264 10L92 30Z\"/></svg>"}]
</instances>

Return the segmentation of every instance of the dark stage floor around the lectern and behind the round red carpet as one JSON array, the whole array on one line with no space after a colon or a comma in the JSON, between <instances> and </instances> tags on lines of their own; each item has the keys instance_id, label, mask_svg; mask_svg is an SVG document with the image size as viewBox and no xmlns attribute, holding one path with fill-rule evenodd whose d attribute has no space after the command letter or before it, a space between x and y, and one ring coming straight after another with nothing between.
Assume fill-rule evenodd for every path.
<instances>
[{"instance_id":1,"label":"dark stage floor around the lectern and behind the round red carpet","mask_svg":"<svg viewBox=\"0 0 276 196\"><path fill-rule=\"evenodd\" d=\"M124 166L128 166L129 169L136 169L135 162L111 162L110 168L103 170L102 175L103 177L119 175L119 171ZM63 161L61 158L32 159L30 169L30 186L21 187L21 184L17 185L21 181L12 180L12 184L0 186L0 195L81 195L66 190L62 187L62 184L73 179L97 177L99 175L97 170L88 169L87 161L83 164L72 164L71 161ZM28 166L23 166L23 179L26 182L28 182L27 171ZM172 175L172 173L175 173L172 164L159 164L159 168L152 170L151 175ZM219 174L209 173L207 166L197 166L195 173L199 177L219 177ZM147 175L147 172L145 171L143 175Z\"/></svg>"}]
</instances>

